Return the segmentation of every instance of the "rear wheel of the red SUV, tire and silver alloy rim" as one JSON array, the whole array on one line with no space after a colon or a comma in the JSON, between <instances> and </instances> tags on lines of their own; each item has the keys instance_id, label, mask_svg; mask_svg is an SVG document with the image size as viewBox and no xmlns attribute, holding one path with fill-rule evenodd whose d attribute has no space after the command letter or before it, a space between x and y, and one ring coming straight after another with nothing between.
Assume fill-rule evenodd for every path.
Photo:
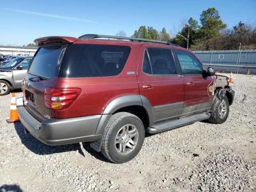
<instances>
[{"instance_id":1,"label":"rear wheel of the red SUV, tire and silver alloy rim","mask_svg":"<svg viewBox=\"0 0 256 192\"><path fill-rule=\"evenodd\" d=\"M101 152L114 163L125 163L140 152L144 138L145 129L141 120L133 114L119 112L108 120Z\"/></svg>"}]
</instances>

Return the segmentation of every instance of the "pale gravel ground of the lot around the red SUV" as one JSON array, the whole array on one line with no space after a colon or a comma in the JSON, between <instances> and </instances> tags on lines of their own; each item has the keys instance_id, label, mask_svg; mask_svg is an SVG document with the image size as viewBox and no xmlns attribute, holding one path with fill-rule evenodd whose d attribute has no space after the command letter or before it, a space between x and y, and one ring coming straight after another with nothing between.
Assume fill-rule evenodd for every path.
<instances>
[{"instance_id":1,"label":"pale gravel ground of the lot around the red SUV","mask_svg":"<svg viewBox=\"0 0 256 192\"><path fill-rule=\"evenodd\" d=\"M139 155L125 164L108 162L87 143L42 144L21 123L6 123L10 94L2 96L0 192L256 191L256 76L234 74L234 81L224 124L147 134Z\"/></svg>"}]
</instances>

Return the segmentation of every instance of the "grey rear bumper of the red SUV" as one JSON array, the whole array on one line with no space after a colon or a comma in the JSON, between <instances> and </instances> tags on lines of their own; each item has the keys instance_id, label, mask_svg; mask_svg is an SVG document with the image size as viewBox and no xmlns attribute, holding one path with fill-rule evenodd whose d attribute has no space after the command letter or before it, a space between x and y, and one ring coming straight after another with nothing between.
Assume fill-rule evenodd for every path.
<instances>
[{"instance_id":1,"label":"grey rear bumper of the red SUV","mask_svg":"<svg viewBox=\"0 0 256 192\"><path fill-rule=\"evenodd\" d=\"M48 145L63 145L100 140L95 135L101 115L78 118L51 118L43 122L34 118L24 107L23 98L16 99L18 116L24 127L38 140Z\"/></svg>"}]
</instances>

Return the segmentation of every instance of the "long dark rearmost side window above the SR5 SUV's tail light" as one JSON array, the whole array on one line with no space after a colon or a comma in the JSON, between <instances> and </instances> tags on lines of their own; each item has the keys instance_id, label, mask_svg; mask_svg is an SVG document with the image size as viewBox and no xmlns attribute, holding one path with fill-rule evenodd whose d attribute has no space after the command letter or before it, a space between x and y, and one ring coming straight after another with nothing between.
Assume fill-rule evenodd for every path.
<instances>
[{"instance_id":1,"label":"long dark rearmost side window above the SR5 SUV's tail light","mask_svg":"<svg viewBox=\"0 0 256 192\"><path fill-rule=\"evenodd\" d=\"M95 44L70 44L59 77L102 77L120 74L131 48Z\"/></svg>"}]
</instances>

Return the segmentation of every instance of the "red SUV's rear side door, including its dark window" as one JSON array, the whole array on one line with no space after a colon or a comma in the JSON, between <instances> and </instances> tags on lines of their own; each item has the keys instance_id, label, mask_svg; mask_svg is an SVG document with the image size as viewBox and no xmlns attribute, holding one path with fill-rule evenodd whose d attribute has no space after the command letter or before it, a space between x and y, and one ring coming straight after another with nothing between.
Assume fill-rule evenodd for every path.
<instances>
[{"instance_id":1,"label":"red SUV's rear side door, including its dark window","mask_svg":"<svg viewBox=\"0 0 256 192\"><path fill-rule=\"evenodd\" d=\"M143 105L148 100L154 123L178 118L184 101L184 85L170 48L146 48L141 52L138 85Z\"/></svg>"}]
</instances>

